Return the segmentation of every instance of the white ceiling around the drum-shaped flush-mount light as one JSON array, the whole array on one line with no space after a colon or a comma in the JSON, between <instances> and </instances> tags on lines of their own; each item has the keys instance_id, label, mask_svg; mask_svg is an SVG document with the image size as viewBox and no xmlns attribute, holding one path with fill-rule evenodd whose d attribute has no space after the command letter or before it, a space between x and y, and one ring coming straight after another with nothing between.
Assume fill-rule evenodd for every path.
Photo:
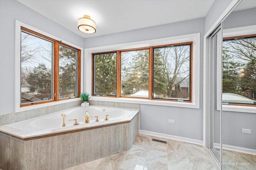
<instances>
[{"instance_id":1,"label":"white ceiling around the drum-shaped flush-mount light","mask_svg":"<svg viewBox=\"0 0 256 170\"><path fill-rule=\"evenodd\" d=\"M205 17L214 0L18 0L87 38ZM89 15L96 33L82 33L78 18Z\"/></svg>"}]
</instances>

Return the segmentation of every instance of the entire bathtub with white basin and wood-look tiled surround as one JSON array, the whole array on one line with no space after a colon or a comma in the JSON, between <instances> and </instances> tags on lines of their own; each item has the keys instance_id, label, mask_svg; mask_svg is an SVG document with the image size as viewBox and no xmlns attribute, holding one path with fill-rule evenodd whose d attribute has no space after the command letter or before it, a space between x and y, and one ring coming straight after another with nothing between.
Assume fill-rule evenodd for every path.
<instances>
[{"instance_id":1,"label":"entire bathtub with white basin and wood-look tiled surround","mask_svg":"<svg viewBox=\"0 0 256 170\"><path fill-rule=\"evenodd\" d=\"M88 124L83 122L86 111ZM95 122L97 115L99 122ZM69 119L77 119L79 125ZM139 110L94 105L4 125L0 127L0 169L63 170L131 149L138 132Z\"/></svg>"}]
</instances>

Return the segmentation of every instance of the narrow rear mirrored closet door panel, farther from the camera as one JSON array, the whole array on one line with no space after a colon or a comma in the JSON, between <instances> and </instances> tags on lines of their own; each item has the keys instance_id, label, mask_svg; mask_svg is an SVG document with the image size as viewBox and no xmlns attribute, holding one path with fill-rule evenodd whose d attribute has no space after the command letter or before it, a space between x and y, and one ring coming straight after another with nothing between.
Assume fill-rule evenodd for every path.
<instances>
[{"instance_id":1,"label":"narrow rear mirrored closet door panel, farther from the camera","mask_svg":"<svg viewBox=\"0 0 256 170\"><path fill-rule=\"evenodd\" d=\"M220 24L210 35L210 153L218 165L222 157L221 142L221 81L218 70L222 69L222 25Z\"/></svg>"}]
</instances>

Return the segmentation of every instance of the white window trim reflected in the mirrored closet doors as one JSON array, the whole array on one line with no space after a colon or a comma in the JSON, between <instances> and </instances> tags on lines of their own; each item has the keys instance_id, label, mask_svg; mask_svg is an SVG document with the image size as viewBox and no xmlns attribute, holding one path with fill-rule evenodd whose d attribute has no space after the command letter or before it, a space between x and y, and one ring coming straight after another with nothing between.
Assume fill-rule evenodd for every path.
<instances>
[{"instance_id":1,"label":"white window trim reflected in the mirrored closet doors","mask_svg":"<svg viewBox=\"0 0 256 170\"><path fill-rule=\"evenodd\" d=\"M230 29L223 29L222 37L234 37L234 36L241 36L241 35L250 35L256 33L256 25L246 26L246 27L236 27ZM217 76L221 76L221 70L218 69L216 74ZM221 94L221 84L217 84L217 94ZM220 110L221 102L217 98L217 110ZM256 113L256 107L253 106L237 106L237 105L222 105L222 111L235 111L235 112L246 112L246 113Z\"/></svg>"}]
</instances>

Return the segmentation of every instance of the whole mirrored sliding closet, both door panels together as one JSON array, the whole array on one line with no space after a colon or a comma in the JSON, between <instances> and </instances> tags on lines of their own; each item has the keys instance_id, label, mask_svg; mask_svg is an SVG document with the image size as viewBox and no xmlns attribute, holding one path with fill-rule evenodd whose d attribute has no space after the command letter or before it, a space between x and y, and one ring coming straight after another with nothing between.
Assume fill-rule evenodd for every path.
<instances>
[{"instance_id":1,"label":"whole mirrored sliding closet, both door panels together","mask_svg":"<svg viewBox=\"0 0 256 170\"><path fill-rule=\"evenodd\" d=\"M256 167L255 16L256 1L239 0L206 41L205 140L220 169Z\"/></svg>"}]
</instances>

